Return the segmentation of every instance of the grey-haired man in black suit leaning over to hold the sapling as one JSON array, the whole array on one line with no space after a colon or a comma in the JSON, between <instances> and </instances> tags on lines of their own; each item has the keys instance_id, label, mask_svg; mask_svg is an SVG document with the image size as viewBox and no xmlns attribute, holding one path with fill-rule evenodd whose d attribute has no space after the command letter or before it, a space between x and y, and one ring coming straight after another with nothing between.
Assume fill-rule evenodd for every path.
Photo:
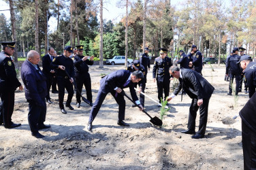
<instances>
[{"instance_id":1,"label":"grey-haired man in black suit leaning over to hold the sapling","mask_svg":"<svg viewBox=\"0 0 256 170\"><path fill-rule=\"evenodd\" d=\"M195 134L193 139L203 138L206 132L208 105L214 87L205 80L202 75L191 69L179 69L176 66L170 67L170 74L177 78L180 83L174 90L172 95L168 97L167 101L178 95L178 92L183 88L187 95L192 99L191 106L189 108L189 122L188 130L182 131L186 134ZM197 116L197 110L200 112L199 129L195 133L195 118Z\"/></svg>"}]
</instances>

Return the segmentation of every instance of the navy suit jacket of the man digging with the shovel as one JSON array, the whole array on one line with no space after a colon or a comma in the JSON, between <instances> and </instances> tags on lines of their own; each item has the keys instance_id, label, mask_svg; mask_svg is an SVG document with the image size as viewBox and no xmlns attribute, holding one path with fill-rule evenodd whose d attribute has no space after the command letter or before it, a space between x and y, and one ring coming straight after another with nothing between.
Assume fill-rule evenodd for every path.
<instances>
[{"instance_id":1,"label":"navy suit jacket of the man digging with the shovel","mask_svg":"<svg viewBox=\"0 0 256 170\"><path fill-rule=\"evenodd\" d=\"M124 86L124 84L127 82L130 75L131 75L130 71L123 70L123 69L114 71L109 75L106 75L100 81L100 84L101 84L100 88L102 92L105 92L105 93L112 92L116 87L121 89L129 87L133 101L138 101L138 97L134 90L134 83L130 81L129 84Z\"/></svg>"}]
</instances>

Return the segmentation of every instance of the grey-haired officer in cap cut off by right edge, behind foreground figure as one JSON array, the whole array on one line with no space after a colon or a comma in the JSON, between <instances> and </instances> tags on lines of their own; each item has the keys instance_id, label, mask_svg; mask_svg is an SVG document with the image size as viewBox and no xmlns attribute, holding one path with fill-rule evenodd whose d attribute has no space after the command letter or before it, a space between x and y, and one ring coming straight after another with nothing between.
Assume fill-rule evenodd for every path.
<instances>
[{"instance_id":1,"label":"grey-haired officer in cap cut off by right edge, behind foreground figure","mask_svg":"<svg viewBox=\"0 0 256 170\"><path fill-rule=\"evenodd\" d=\"M244 86L249 88L249 97L251 98L256 88L256 63L252 62L252 58L249 55L241 56L239 63L244 70Z\"/></svg>"}]
</instances>

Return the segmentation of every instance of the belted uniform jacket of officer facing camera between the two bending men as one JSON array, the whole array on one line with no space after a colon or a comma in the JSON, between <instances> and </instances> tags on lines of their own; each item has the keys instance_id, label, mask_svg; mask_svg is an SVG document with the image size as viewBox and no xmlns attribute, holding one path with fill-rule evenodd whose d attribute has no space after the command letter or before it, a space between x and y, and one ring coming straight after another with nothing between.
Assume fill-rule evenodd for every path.
<instances>
[{"instance_id":1,"label":"belted uniform jacket of officer facing camera between the two bending men","mask_svg":"<svg viewBox=\"0 0 256 170\"><path fill-rule=\"evenodd\" d=\"M157 78L158 82L163 82L163 79L171 78L169 69L172 66L172 59L165 56L164 59L161 56L155 58L153 67L153 78Z\"/></svg>"}]
</instances>

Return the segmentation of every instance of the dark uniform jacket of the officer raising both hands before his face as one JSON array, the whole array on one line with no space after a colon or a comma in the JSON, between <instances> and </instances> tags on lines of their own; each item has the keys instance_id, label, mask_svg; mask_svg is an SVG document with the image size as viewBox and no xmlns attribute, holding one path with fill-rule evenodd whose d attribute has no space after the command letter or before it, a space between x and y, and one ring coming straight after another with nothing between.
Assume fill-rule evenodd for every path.
<instances>
[{"instance_id":1,"label":"dark uniform jacket of the officer raising both hands before his face","mask_svg":"<svg viewBox=\"0 0 256 170\"><path fill-rule=\"evenodd\" d=\"M74 56L74 65L75 65L76 74L88 72L89 71L88 65L93 65L93 61L89 59L87 59L86 61L82 61L82 58L84 58L84 56L79 56L78 54Z\"/></svg>"}]
</instances>

